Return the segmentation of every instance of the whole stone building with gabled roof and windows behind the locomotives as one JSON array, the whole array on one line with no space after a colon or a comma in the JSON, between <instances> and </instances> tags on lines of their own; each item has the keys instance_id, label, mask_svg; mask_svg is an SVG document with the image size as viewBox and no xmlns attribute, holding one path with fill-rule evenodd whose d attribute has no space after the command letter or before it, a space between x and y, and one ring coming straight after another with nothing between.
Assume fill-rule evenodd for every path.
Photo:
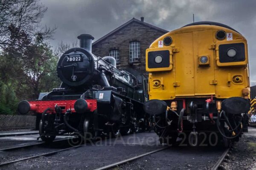
<instances>
[{"instance_id":1,"label":"whole stone building with gabled roof and windows behind the locomotives","mask_svg":"<svg viewBox=\"0 0 256 170\"><path fill-rule=\"evenodd\" d=\"M147 76L145 50L167 30L132 18L122 26L93 42L92 52L96 56L112 56L117 68L133 68Z\"/></svg>"}]
</instances>

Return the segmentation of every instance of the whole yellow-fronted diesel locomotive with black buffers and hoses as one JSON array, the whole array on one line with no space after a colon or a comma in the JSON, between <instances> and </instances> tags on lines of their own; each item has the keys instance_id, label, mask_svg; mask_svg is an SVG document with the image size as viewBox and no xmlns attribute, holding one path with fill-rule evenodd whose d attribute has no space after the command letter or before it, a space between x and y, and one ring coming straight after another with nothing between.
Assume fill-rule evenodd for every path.
<instances>
[{"instance_id":1,"label":"whole yellow-fronted diesel locomotive with black buffers and hoses","mask_svg":"<svg viewBox=\"0 0 256 170\"><path fill-rule=\"evenodd\" d=\"M154 115L160 142L174 143L182 132L195 146L205 132L228 146L247 132L247 41L235 29L197 22L164 34L146 50L146 71L144 110Z\"/></svg>"}]
</instances>

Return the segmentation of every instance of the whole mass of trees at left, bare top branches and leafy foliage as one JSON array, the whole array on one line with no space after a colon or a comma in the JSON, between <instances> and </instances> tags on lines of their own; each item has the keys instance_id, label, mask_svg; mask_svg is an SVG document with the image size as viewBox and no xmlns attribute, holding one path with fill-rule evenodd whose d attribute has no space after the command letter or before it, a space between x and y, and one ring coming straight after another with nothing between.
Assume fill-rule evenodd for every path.
<instances>
[{"instance_id":1,"label":"whole mass of trees at left, bare top branches and leafy foliage","mask_svg":"<svg viewBox=\"0 0 256 170\"><path fill-rule=\"evenodd\" d=\"M58 56L45 41L56 28L39 28L46 11L39 0L0 0L0 113L60 84Z\"/></svg>"}]
</instances>

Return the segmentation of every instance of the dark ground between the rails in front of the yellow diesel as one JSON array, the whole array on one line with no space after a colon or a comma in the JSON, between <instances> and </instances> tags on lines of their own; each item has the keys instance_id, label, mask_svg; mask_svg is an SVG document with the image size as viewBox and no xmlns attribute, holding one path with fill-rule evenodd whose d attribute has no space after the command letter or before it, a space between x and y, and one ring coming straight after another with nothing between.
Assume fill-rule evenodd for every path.
<instances>
[{"instance_id":1,"label":"dark ground between the rails in front of the yellow diesel","mask_svg":"<svg viewBox=\"0 0 256 170\"><path fill-rule=\"evenodd\" d=\"M223 151L216 147L171 147L112 170L210 170Z\"/></svg>"}]
</instances>

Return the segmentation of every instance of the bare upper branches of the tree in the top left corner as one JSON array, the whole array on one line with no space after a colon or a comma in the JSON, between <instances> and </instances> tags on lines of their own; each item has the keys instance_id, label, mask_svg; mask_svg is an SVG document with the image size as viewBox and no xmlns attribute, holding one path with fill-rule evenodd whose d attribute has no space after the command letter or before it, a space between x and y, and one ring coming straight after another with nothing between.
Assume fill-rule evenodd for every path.
<instances>
[{"instance_id":1,"label":"bare upper branches of the tree in the top left corner","mask_svg":"<svg viewBox=\"0 0 256 170\"><path fill-rule=\"evenodd\" d=\"M20 31L24 30L32 38L51 38L56 28L45 26L38 30L46 11L47 7L39 0L0 0L0 48L16 44ZM17 34L12 34L14 28Z\"/></svg>"}]
</instances>

